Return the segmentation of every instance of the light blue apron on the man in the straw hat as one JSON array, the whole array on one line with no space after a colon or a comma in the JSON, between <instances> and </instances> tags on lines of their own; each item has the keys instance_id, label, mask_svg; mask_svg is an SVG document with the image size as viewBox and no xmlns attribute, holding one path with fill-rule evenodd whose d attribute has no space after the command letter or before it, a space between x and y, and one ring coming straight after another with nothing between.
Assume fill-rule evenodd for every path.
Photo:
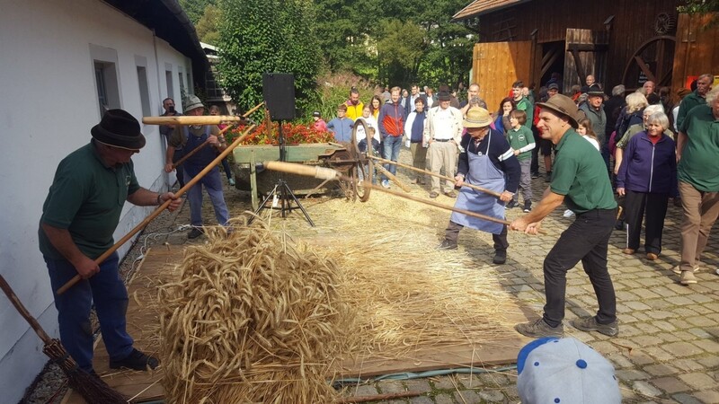
<instances>
[{"instance_id":1,"label":"light blue apron on the man in the straw hat","mask_svg":"<svg viewBox=\"0 0 719 404\"><path fill-rule=\"evenodd\" d=\"M492 130L489 131L487 136L489 136L487 139L487 151L489 151ZM473 141L470 140L470 142ZM466 174L465 182L502 193L504 191L504 173L494 167L489 156L469 152L469 145L467 145L466 154L469 159L469 172ZM504 220L504 203L499 198L468 187L462 187L459 191L455 207ZM493 234L502 233L502 227L504 226L504 224L489 222L457 212L452 213L450 220L456 224Z\"/></svg>"}]
</instances>

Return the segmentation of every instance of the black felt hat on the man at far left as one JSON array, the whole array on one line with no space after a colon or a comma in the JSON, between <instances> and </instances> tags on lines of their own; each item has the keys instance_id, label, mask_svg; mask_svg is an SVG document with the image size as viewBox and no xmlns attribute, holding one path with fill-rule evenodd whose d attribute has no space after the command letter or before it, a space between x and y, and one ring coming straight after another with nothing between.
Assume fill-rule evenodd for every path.
<instances>
[{"instance_id":1,"label":"black felt hat on the man at far left","mask_svg":"<svg viewBox=\"0 0 719 404\"><path fill-rule=\"evenodd\" d=\"M105 145L128 150L139 150L145 146L145 136L140 133L140 124L125 110L108 110L99 124L90 129L93 138Z\"/></svg>"}]
</instances>

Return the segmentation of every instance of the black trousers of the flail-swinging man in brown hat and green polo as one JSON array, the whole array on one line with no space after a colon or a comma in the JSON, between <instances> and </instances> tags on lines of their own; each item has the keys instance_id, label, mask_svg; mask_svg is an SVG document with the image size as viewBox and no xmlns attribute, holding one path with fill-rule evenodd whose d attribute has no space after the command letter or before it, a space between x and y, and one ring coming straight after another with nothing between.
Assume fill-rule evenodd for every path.
<instances>
[{"instance_id":1,"label":"black trousers of the flail-swinging man in brown hat and green polo","mask_svg":"<svg viewBox=\"0 0 719 404\"><path fill-rule=\"evenodd\" d=\"M567 271L580 260L599 302L597 322L608 324L617 320L617 296L607 269L609 236L616 215L616 209L594 209L577 215L547 254L544 320L550 326L557 327L564 320Z\"/></svg>"}]
</instances>

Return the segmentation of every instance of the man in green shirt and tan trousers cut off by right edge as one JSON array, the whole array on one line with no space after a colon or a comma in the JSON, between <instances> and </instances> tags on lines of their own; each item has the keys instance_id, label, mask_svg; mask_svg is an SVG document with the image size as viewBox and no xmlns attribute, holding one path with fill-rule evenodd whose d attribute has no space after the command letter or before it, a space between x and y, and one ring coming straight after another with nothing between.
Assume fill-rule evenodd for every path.
<instances>
[{"instance_id":1,"label":"man in green shirt and tan trousers cut off by right edge","mask_svg":"<svg viewBox=\"0 0 719 404\"><path fill-rule=\"evenodd\" d=\"M681 221L682 285L697 283L694 272L719 215L719 87L706 93L682 121L677 136L677 177L684 216Z\"/></svg>"}]
</instances>

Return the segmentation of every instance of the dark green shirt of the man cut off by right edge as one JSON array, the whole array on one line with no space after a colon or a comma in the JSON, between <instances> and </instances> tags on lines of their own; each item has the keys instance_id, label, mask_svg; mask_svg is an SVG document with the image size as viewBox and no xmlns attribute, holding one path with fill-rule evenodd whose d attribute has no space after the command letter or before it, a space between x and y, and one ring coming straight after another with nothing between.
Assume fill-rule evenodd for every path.
<instances>
[{"instance_id":1,"label":"dark green shirt of the man cut off by right edge","mask_svg":"<svg viewBox=\"0 0 719 404\"><path fill-rule=\"evenodd\" d=\"M700 191L719 192L719 119L708 105L699 105L689 111L679 132L688 137L677 166L679 181Z\"/></svg>"}]
</instances>

